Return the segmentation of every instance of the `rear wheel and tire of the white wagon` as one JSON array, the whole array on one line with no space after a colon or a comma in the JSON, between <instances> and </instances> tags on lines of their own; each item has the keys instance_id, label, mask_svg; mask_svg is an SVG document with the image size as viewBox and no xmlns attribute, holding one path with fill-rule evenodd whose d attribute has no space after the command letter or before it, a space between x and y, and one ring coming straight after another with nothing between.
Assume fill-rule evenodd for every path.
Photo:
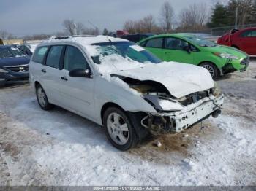
<instances>
[{"instance_id":1,"label":"rear wheel and tire of the white wagon","mask_svg":"<svg viewBox=\"0 0 256 191\"><path fill-rule=\"evenodd\" d=\"M41 85L37 85L36 93L38 104L43 110L53 109L53 104L49 103L45 90Z\"/></svg>"}]
</instances>

